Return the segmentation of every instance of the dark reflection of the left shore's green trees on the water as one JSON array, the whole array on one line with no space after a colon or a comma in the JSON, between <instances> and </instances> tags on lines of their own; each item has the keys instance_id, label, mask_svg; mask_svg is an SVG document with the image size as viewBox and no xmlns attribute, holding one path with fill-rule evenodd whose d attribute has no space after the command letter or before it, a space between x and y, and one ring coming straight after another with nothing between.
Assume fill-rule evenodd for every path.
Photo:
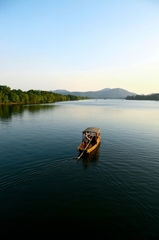
<instances>
[{"instance_id":1,"label":"dark reflection of the left shore's green trees on the water","mask_svg":"<svg viewBox=\"0 0 159 240\"><path fill-rule=\"evenodd\" d=\"M0 120L11 119L12 116L22 115L24 111L30 113L49 110L53 105L0 105Z\"/></svg>"}]
</instances>

